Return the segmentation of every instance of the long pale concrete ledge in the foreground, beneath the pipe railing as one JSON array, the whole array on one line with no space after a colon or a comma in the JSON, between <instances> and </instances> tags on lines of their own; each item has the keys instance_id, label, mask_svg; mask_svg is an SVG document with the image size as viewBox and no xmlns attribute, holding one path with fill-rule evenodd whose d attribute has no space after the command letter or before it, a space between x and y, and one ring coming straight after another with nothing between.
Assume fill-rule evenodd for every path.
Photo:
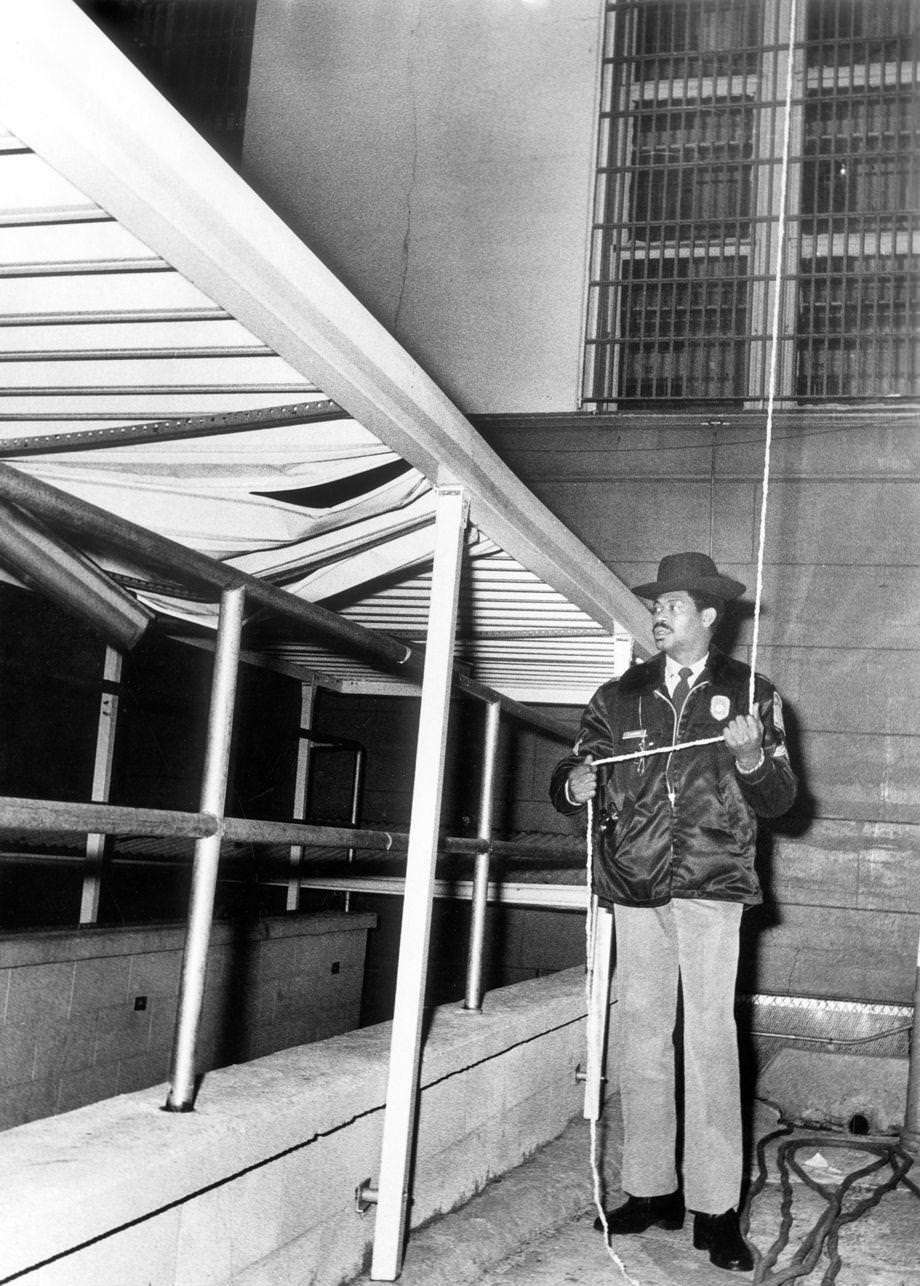
<instances>
[{"instance_id":1,"label":"long pale concrete ledge in the foreground, beneath the pipe railing","mask_svg":"<svg viewBox=\"0 0 920 1286\"><path fill-rule=\"evenodd\" d=\"M468 1200L580 1111L584 1010L574 968L490 993L481 1015L435 1011L413 1226ZM378 1172L389 1043L381 1024L210 1073L192 1114L162 1111L166 1087L156 1087L8 1130L0 1277L36 1286L354 1277L373 1236L354 1190Z\"/></svg>"}]
</instances>

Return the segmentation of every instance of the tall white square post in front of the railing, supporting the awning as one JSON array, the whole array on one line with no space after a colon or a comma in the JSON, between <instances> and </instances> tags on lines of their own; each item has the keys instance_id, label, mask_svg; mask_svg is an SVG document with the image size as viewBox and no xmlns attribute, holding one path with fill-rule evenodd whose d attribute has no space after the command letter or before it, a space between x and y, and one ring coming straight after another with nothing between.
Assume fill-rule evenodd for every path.
<instances>
[{"instance_id":1,"label":"tall white square post in front of the railing, supporting the awning","mask_svg":"<svg viewBox=\"0 0 920 1286\"><path fill-rule=\"evenodd\" d=\"M437 858L461 556L467 513L468 500L462 487L439 489L431 606L405 860L403 926L399 939L396 998L381 1142L377 1223L371 1260L371 1277L374 1281L395 1281L403 1260L421 1069L431 899Z\"/></svg>"}]
</instances>

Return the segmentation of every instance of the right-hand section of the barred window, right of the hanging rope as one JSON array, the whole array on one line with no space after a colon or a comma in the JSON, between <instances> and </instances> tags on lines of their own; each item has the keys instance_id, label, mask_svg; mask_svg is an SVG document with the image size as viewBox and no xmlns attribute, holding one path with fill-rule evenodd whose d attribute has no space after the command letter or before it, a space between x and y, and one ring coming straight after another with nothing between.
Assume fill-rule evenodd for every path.
<instances>
[{"instance_id":1,"label":"right-hand section of the barred window, right of the hanging rope","mask_svg":"<svg viewBox=\"0 0 920 1286\"><path fill-rule=\"evenodd\" d=\"M920 391L917 19L910 0L809 5L795 391Z\"/></svg>"}]
</instances>

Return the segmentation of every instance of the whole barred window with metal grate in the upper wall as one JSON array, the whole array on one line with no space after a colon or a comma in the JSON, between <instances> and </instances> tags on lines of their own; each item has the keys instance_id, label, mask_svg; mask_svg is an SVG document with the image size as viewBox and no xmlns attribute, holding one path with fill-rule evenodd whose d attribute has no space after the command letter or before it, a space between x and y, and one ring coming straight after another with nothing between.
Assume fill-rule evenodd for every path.
<instances>
[{"instance_id":1,"label":"whole barred window with metal grate in the upper wall","mask_svg":"<svg viewBox=\"0 0 920 1286\"><path fill-rule=\"evenodd\" d=\"M911 0L607 5L584 403L920 394Z\"/></svg>"}]
</instances>

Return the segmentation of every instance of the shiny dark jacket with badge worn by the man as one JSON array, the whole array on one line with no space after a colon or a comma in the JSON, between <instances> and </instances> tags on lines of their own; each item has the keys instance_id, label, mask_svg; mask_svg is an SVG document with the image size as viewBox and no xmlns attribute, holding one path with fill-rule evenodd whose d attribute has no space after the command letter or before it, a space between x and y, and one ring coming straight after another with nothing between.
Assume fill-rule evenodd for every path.
<instances>
[{"instance_id":1,"label":"shiny dark jacket with badge worn by the man","mask_svg":"<svg viewBox=\"0 0 920 1286\"><path fill-rule=\"evenodd\" d=\"M571 755L552 774L560 813L575 813L565 793L570 769L585 755L606 759L639 748L719 737L746 714L750 669L714 649L679 715L664 684L664 656L598 688L582 716ZM594 891L602 901L659 907L672 898L762 901L754 869L757 817L778 817L796 782L784 743L782 706L757 676L763 763L742 774L723 742L650 755L598 769L594 800Z\"/></svg>"}]
</instances>

